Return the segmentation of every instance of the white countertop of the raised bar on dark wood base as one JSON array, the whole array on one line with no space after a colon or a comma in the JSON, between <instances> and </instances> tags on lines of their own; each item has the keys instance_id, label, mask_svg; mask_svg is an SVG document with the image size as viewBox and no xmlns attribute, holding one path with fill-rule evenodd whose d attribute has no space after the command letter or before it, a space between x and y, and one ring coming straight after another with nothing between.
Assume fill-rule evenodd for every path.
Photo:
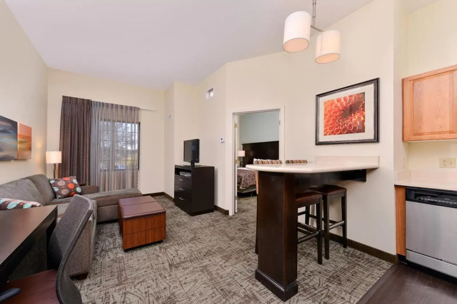
<instances>
[{"instance_id":1,"label":"white countertop of the raised bar on dark wood base","mask_svg":"<svg viewBox=\"0 0 457 304\"><path fill-rule=\"evenodd\" d=\"M307 163L307 164L268 164L246 165L246 168L256 171L281 172L281 173L322 173L349 170L376 169L378 164L359 163Z\"/></svg>"}]
</instances>

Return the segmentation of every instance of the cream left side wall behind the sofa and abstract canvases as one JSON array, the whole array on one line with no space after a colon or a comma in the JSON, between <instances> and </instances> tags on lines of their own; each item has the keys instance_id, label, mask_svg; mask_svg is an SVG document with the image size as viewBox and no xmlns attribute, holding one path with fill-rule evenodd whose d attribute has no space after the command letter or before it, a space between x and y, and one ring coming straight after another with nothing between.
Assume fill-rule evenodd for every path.
<instances>
[{"instance_id":1,"label":"cream left side wall behind the sofa and abstract canvases","mask_svg":"<svg viewBox=\"0 0 457 304\"><path fill-rule=\"evenodd\" d=\"M0 184L46 174L48 67L0 0L0 115L32 127L32 159L0 162Z\"/></svg>"}]
</instances>

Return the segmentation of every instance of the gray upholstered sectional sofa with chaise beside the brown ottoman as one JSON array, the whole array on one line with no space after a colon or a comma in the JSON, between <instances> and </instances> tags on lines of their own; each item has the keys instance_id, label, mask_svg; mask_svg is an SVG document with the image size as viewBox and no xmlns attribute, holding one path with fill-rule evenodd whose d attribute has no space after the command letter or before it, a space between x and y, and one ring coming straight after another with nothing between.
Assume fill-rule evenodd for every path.
<instances>
[{"instance_id":1,"label":"gray upholstered sectional sofa with chaise beside the brown ottoman","mask_svg":"<svg viewBox=\"0 0 457 304\"><path fill-rule=\"evenodd\" d=\"M67 263L67 274L85 278L90 271L94 252L96 224L117 220L117 201L120 198L142 196L136 189L98 192L98 186L81 186L84 196L94 202L94 213L90 216ZM24 201L36 201L43 206L58 205L61 216L71 197L56 199L48 178L45 175L32 175L0 185L0 198L12 198ZM8 211L2 211L8 212Z\"/></svg>"}]
</instances>

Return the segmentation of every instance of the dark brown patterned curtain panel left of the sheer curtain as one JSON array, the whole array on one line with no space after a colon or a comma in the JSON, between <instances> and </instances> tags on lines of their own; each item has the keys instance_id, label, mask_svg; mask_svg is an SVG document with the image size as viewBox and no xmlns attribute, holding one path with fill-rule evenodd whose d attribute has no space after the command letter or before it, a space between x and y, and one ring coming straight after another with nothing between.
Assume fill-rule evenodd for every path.
<instances>
[{"instance_id":1,"label":"dark brown patterned curtain panel left of the sheer curtain","mask_svg":"<svg viewBox=\"0 0 457 304\"><path fill-rule=\"evenodd\" d=\"M90 99L62 96L60 145L62 164L58 176L76 176L80 184L89 185Z\"/></svg>"}]
</instances>

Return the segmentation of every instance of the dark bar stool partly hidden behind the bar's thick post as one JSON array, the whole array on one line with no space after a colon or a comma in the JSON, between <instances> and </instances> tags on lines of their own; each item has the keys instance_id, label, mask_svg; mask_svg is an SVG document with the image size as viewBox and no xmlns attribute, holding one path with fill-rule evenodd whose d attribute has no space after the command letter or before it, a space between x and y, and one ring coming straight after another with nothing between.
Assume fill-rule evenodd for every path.
<instances>
[{"instance_id":1,"label":"dark bar stool partly hidden behind the bar's thick post","mask_svg":"<svg viewBox=\"0 0 457 304\"><path fill-rule=\"evenodd\" d=\"M297 193L295 195L295 206L297 207L297 217L303 214L306 214L307 211L298 212L299 208L306 207L308 209L310 206L316 206L316 217L321 217L321 206L322 206L323 196L319 192L308 191L304 193ZM309 214L309 211L308 211ZM321 230L321 221L316 221L316 228L309 226L309 221L306 224L303 224L297 219L297 230L305 234L304 237L299 237L297 245L306 242L312 238L317 238L317 261L319 264L322 264L322 230Z\"/></svg>"}]
</instances>

